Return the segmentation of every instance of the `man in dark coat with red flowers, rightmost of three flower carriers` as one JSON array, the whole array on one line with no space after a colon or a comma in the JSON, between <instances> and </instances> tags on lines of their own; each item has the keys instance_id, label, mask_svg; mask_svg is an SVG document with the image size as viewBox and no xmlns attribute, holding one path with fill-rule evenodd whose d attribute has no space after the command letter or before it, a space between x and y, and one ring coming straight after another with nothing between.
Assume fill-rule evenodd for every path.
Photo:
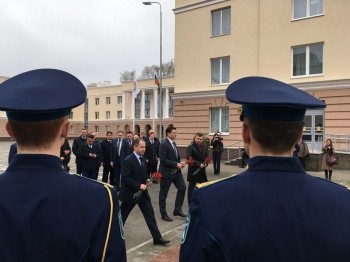
<instances>
[{"instance_id":1,"label":"man in dark coat with red flowers, rightmost of three flower carriers","mask_svg":"<svg viewBox=\"0 0 350 262\"><path fill-rule=\"evenodd\" d=\"M188 161L188 190L187 199L188 205L191 203L192 191L197 183L208 182L207 173L205 168L208 166L208 148L203 146L204 135L202 133L196 133L193 141L187 147L186 157Z\"/></svg>"}]
</instances>

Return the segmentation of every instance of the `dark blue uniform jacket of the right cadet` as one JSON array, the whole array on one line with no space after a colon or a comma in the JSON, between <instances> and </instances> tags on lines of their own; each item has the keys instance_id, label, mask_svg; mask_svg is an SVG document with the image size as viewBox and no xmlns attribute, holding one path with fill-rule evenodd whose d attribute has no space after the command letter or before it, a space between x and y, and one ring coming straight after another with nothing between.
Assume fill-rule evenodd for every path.
<instances>
[{"instance_id":1,"label":"dark blue uniform jacket of the right cadet","mask_svg":"<svg viewBox=\"0 0 350 262\"><path fill-rule=\"evenodd\" d=\"M307 175L293 157L248 163L193 192L180 261L350 261L345 187Z\"/></svg>"}]
</instances>

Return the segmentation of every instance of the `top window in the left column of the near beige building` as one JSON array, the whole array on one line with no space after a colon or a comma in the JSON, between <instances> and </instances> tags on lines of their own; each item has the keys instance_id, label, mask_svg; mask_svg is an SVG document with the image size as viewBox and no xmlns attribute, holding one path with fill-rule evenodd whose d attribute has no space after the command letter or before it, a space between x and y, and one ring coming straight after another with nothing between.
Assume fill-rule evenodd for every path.
<instances>
[{"instance_id":1,"label":"top window in the left column of the near beige building","mask_svg":"<svg viewBox=\"0 0 350 262\"><path fill-rule=\"evenodd\" d=\"M212 11L212 36L227 35L231 32L231 8Z\"/></svg>"}]
</instances>

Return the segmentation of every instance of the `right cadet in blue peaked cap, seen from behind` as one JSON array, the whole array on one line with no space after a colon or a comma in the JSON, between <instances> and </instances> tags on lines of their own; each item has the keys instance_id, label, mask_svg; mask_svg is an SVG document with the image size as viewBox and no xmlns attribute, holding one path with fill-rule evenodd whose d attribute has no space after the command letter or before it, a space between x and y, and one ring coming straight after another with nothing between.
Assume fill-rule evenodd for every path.
<instances>
[{"instance_id":1,"label":"right cadet in blue peaked cap, seen from behind","mask_svg":"<svg viewBox=\"0 0 350 262\"><path fill-rule=\"evenodd\" d=\"M243 173L193 192L180 261L350 261L350 193L305 173L294 144L319 99L265 77L226 90L241 104Z\"/></svg>"}]
</instances>

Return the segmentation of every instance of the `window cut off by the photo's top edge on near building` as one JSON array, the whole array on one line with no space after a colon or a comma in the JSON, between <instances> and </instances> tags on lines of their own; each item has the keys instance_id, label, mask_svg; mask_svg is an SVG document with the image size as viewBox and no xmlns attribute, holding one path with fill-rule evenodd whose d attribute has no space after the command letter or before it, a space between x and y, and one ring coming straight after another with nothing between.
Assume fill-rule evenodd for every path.
<instances>
[{"instance_id":1,"label":"window cut off by the photo's top edge on near building","mask_svg":"<svg viewBox=\"0 0 350 262\"><path fill-rule=\"evenodd\" d=\"M323 14L323 0L293 0L293 19Z\"/></svg>"}]
</instances>

